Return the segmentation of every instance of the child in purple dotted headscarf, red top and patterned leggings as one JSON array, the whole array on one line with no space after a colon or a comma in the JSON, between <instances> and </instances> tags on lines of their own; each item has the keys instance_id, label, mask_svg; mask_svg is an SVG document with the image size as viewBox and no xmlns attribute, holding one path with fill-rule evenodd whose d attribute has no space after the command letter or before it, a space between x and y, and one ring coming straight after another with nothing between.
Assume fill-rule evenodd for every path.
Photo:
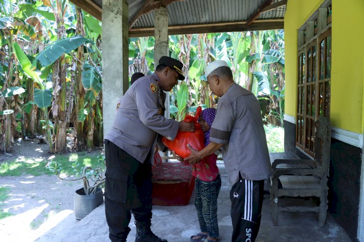
<instances>
[{"instance_id":1,"label":"child in purple dotted headscarf, red top and patterned leggings","mask_svg":"<svg viewBox=\"0 0 364 242\"><path fill-rule=\"evenodd\" d=\"M205 134L205 145L210 143L210 127L214 122L216 109L207 108L199 116L199 124ZM195 207L199 218L201 233L191 236L191 242L217 241L217 196L220 192L221 178L216 166L217 155L211 154L192 168L195 179Z\"/></svg>"}]
</instances>

